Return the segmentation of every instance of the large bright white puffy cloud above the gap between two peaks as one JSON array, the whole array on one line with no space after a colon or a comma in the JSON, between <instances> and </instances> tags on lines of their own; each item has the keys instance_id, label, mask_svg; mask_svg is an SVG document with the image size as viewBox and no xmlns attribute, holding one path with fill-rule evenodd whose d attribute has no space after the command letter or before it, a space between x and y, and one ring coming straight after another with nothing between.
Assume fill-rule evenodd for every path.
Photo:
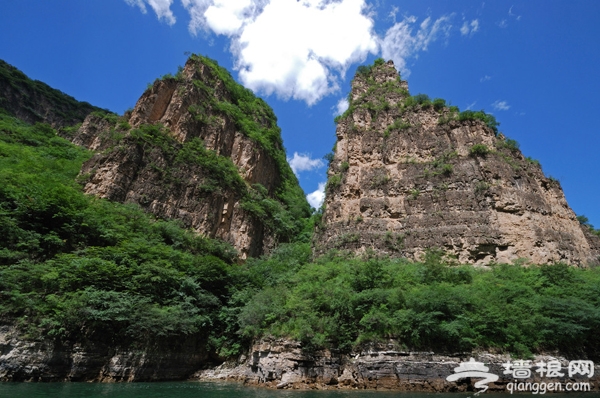
<instances>
[{"instance_id":1,"label":"large bright white puffy cloud above the gap between two peaks","mask_svg":"<svg viewBox=\"0 0 600 398\"><path fill-rule=\"evenodd\" d=\"M277 0L249 21L232 43L247 87L312 105L339 89L334 72L377 51L364 0Z\"/></svg>"}]
</instances>

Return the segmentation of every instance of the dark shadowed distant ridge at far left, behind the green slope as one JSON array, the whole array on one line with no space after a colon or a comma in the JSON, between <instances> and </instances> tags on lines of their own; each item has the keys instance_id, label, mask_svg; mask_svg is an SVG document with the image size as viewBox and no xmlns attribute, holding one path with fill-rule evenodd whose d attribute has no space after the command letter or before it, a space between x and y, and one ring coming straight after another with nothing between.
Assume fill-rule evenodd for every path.
<instances>
[{"instance_id":1,"label":"dark shadowed distant ridge at far left, behind the green slope","mask_svg":"<svg viewBox=\"0 0 600 398\"><path fill-rule=\"evenodd\" d=\"M23 72L0 60L0 108L28 123L44 122L54 128L81 123L93 111L103 111L31 80Z\"/></svg>"}]
</instances>

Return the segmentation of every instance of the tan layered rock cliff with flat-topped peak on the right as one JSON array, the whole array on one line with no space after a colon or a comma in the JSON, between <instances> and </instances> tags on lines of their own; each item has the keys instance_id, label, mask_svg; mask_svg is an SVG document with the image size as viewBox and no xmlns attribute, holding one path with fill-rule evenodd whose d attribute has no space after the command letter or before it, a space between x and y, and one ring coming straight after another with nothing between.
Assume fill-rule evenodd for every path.
<instances>
[{"instance_id":1,"label":"tan layered rock cliff with flat-topped peak on the right","mask_svg":"<svg viewBox=\"0 0 600 398\"><path fill-rule=\"evenodd\" d=\"M441 248L463 263L598 262L598 238L556 180L483 121L410 105L407 89L391 61L356 75L337 125L317 253L419 259Z\"/></svg>"}]
</instances>

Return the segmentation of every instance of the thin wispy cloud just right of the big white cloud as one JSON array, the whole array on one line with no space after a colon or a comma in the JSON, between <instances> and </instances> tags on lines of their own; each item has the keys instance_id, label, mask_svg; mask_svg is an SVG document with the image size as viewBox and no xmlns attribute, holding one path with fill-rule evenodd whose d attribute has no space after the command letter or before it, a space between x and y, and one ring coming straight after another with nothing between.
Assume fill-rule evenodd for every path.
<instances>
[{"instance_id":1,"label":"thin wispy cloud just right of the big white cloud","mask_svg":"<svg viewBox=\"0 0 600 398\"><path fill-rule=\"evenodd\" d=\"M417 22L414 16L405 18L402 22L394 24L381 41L381 55L384 59L392 59L396 69L404 77L410 74L406 66L407 59L420 51L427 51L430 43L440 37L448 38L452 24L452 14L444 15L431 23L431 17L426 18L413 34L413 25Z\"/></svg>"}]
</instances>

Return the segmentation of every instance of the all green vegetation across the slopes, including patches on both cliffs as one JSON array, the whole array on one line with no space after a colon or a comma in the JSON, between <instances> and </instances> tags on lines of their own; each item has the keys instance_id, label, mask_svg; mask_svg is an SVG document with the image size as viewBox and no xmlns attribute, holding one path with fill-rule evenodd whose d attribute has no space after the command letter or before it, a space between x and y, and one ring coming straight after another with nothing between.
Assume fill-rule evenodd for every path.
<instances>
[{"instance_id":1,"label":"all green vegetation across the slopes, including patches on both cliffs","mask_svg":"<svg viewBox=\"0 0 600 398\"><path fill-rule=\"evenodd\" d=\"M235 252L222 242L135 206L84 195L76 176L89 152L48 125L0 112L0 317L30 337L141 347L191 336L221 358L268 334L298 339L307 349L345 352L394 339L400 347L438 352L560 350L600 358L599 268L477 269L435 251L421 262L334 252L313 259L308 242L320 214L302 217L297 190L284 182L277 200L260 185L248 187L230 159L199 140L178 144L161 126L141 126L128 136L119 129L129 127L115 130L113 150L129 140L146 153L161 151L174 167L200 166L207 171L203 189L233 187L246 210L295 243L233 264ZM518 144L506 140L502 148ZM436 159L430 171L451 173L453 156ZM328 189L342 178L332 176ZM401 240L384 236L390 244Z\"/></svg>"}]
</instances>

